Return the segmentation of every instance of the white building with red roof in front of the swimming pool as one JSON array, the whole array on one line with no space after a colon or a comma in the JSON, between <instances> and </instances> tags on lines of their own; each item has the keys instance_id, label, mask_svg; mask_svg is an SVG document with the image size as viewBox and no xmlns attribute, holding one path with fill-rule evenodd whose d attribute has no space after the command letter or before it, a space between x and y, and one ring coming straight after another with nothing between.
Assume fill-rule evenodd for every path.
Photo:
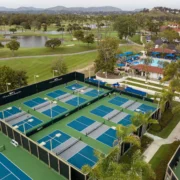
<instances>
[{"instance_id":1,"label":"white building with red roof in front of the swimming pool","mask_svg":"<svg viewBox=\"0 0 180 180\"><path fill-rule=\"evenodd\" d=\"M149 76L152 79L159 79L160 77L163 77L163 69L159 67L138 64L136 66L131 66L131 68L135 70L136 74L138 73L141 76L145 76L146 72L149 72Z\"/></svg>"}]
</instances>

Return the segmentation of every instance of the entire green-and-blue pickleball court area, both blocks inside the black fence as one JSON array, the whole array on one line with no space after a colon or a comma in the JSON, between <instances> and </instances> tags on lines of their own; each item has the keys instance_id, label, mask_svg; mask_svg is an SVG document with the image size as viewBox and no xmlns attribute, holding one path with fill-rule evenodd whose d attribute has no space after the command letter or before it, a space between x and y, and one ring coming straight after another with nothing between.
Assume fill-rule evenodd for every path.
<instances>
[{"instance_id":1,"label":"entire green-and-blue pickleball court area, both blocks inside the black fence","mask_svg":"<svg viewBox=\"0 0 180 180\"><path fill-rule=\"evenodd\" d=\"M104 95L96 103L68 116L68 112ZM156 104L113 93L97 86L72 81L61 86L2 106L0 118L26 133L43 123L67 115L66 118L35 133L30 138L81 169L93 167L94 151L108 155L115 146L116 126L128 126L135 112L156 110Z\"/></svg>"}]
</instances>

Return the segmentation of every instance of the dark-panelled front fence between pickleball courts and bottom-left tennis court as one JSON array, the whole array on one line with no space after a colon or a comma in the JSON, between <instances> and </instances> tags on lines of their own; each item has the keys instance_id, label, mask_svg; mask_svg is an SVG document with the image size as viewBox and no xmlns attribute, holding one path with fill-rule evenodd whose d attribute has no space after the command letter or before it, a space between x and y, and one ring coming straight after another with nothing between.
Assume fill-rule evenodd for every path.
<instances>
[{"instance_id":1,"label":"dark-panelled front fence between pickleball courts and bottom-left tennis court","mask_svg":"<svg viewBox=\"0 0 180 180\"><path fill-rule=\"evenodd\" d=\"M9 138L17 141L19 145L26 149L30 154L36 156L39 160L43 161L50 168L54 169L68 180L87 180L87 175L82 174L76 167L73 167L63 159L55 156L49 150L41 147L38 143L26 137L6 122L0 121L0 130Z\"/></svg>"}]
</instances>

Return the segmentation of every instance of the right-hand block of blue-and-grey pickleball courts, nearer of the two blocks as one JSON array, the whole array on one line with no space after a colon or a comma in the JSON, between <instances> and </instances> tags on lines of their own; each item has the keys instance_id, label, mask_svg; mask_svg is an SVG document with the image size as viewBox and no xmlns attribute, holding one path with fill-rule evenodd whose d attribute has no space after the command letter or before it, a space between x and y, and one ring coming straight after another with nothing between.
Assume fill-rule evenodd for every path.
<instances>
[{"instance_id":1,"label":"right-hand block of blue-and-grey pickleball courts, nearer of the two blocks","mask_svg":"<svg viewBox=\"0 0 180 180\"><path fill-rule=\"evenodd\" d=\"M79 169L86 164L93 167L97 162L94 150L108 155L114 147L117 124L128 126L135 112L154 112L156 108L153 103L112 94L30 138Z\"/></svg>"}]
</instances>

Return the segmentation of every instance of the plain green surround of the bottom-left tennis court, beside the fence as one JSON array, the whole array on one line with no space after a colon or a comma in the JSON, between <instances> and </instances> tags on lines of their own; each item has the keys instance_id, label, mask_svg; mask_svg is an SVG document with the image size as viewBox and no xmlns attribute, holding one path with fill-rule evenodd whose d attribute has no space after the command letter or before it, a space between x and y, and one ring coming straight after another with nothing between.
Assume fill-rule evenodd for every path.
<instances>
[{"instance_id":1,"label":"plain green surround of the bottom-left tennis court, beside the fence","mask_svg":"<svg viewBox=\"0 0 180 180\"><path fill-rule=\"evenodd\" d=\"M63 176L49 169L45 163L39 161L38 158L31 155L28 151L21 147L14 147L10 143L10 139L0 132L0 146L1 145L5 145L6 148L2 153L32 179L65 180Z\"/></svg>"}]
</instances>

